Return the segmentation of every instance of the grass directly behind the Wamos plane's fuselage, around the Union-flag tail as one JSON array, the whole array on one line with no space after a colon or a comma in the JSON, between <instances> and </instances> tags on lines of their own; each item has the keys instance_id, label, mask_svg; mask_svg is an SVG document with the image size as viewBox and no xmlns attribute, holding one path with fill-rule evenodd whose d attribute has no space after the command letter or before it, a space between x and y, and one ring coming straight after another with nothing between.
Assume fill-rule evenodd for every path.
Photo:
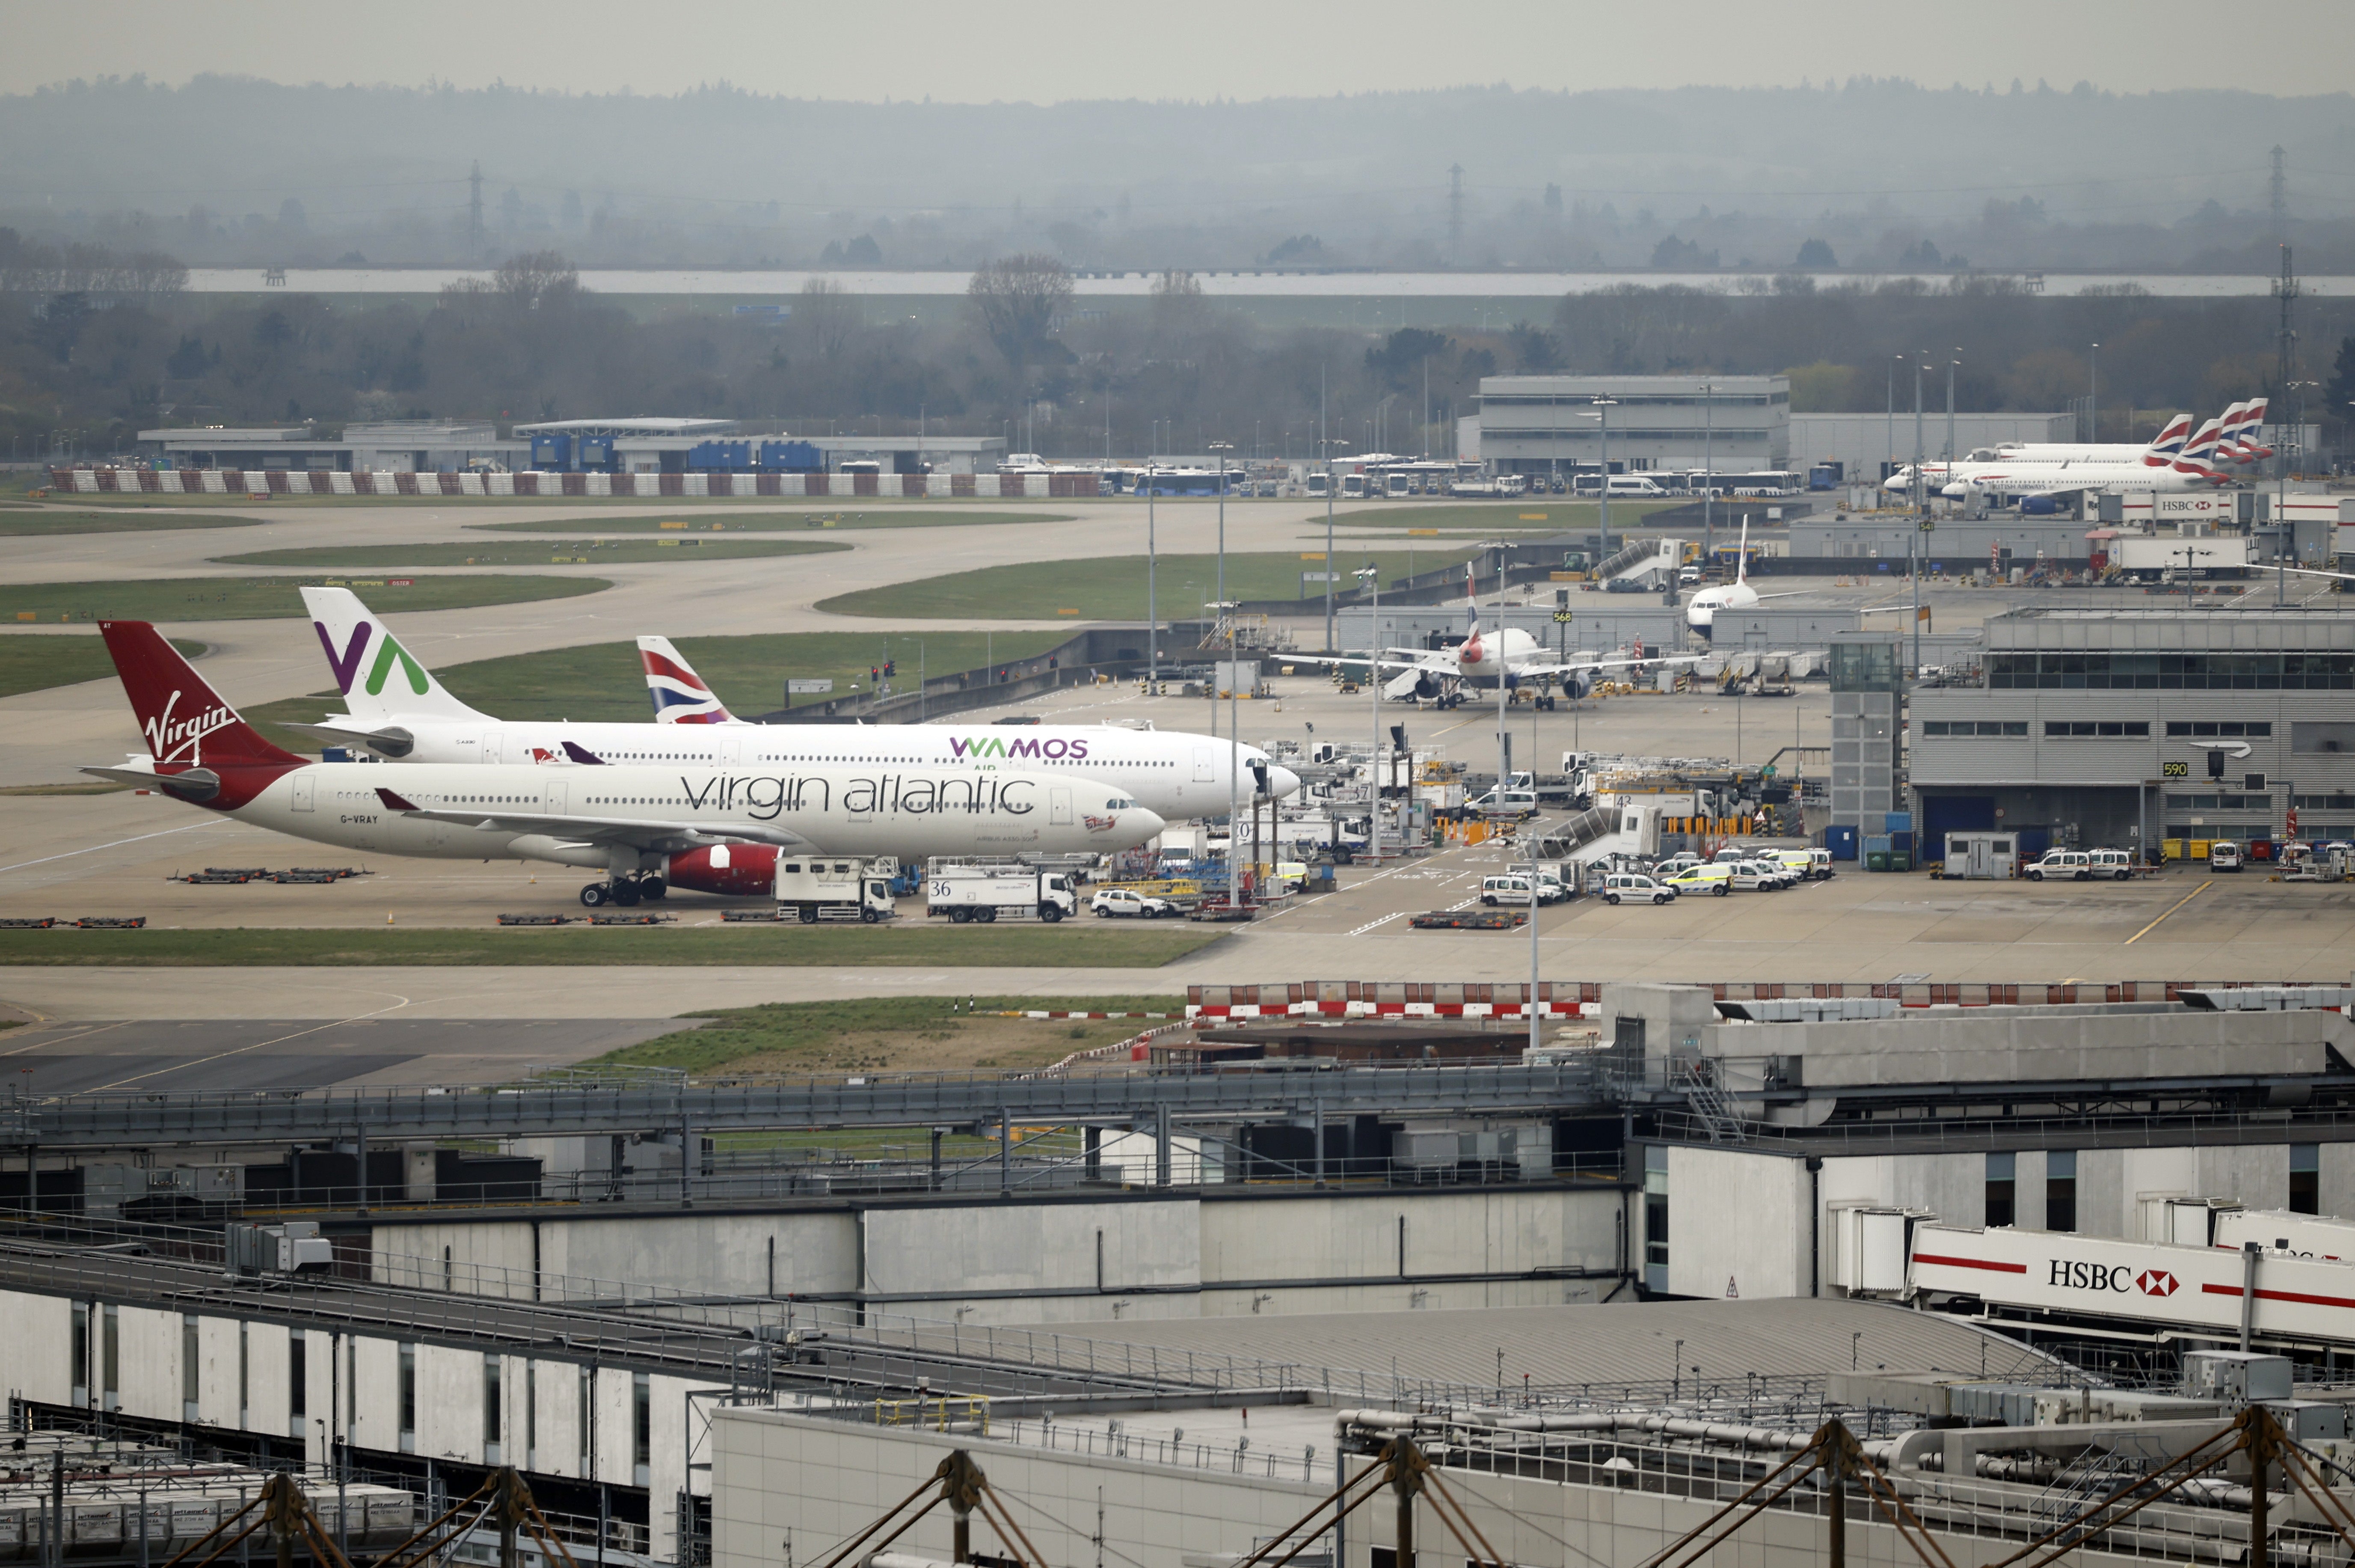
<instances>
[{"instance_id":1,"label":"grass directly behind the Wamos plane's fuselage, around the Union-flag tail","mask_svg":"<svg viewBox=\"0 0 2355 1568\"><path fill-rule=\"evenodd\" d=\"M782 709L789 676L834 680L834 695L848 697L853 683L860 692L867 690L871 666L897 659L900 690L914 690L918 664L933 673L982 669L989 659L1027 659L1060 640L1062 636L1055 631L1003 631L996 636L928 631L921 638L900 631L780 631L756 638L678 638L676 647L711 685L714 695L742 718ZM499 718L645 723L655 716L645 697L645 669L638 664L636 643L551 647L506 659L452 664L433 673L459 702ZM824 702L824 697L798 697L796 702L808 706ZM341 711L341 697L313 692L311 697L287 697L245 709L245 718L266 725L306 725L323 713ZM290 739L290 735L273 732L273 739L294 751L318 749L318 742L309 737Z\"/></svg>"}]
</instances>

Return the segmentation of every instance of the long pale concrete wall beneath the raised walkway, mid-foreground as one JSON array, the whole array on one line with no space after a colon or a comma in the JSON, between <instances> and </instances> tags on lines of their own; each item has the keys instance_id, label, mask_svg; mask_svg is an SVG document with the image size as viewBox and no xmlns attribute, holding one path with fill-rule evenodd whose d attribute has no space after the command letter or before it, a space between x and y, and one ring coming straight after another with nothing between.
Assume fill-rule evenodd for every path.
<instances>
[{"instance_id":1,"label":"long pale concrete wall beneath the raised walkway, mid-foreground","mask_svg":"<svg viewBox=\"0 0 2355 1568\"><path fill-rule=\"evenodd\" d=\"M973 1326L1088 1323L1594 1300L1590 1283L1557 1276L1616 1267L1618 1208L1616 1189L1552 1184L1241 1198L1170 1194L1102 1203L1017 1198L542 1220L537 1227L509 1220L379 1224L374 1248L389 1255L379 1257L382 1276L429 1290L443 1288L443 1278L469 1290L476 1278L469 1264L480 1264L485 1293L528 1297L537 1229L542 1288L551 1300L565 1288L558 1276L570 1276L864 1300L883 1314ZM1401 1217L1408 1236L1404 1278Z\"/></svg>"}]
</instances>

